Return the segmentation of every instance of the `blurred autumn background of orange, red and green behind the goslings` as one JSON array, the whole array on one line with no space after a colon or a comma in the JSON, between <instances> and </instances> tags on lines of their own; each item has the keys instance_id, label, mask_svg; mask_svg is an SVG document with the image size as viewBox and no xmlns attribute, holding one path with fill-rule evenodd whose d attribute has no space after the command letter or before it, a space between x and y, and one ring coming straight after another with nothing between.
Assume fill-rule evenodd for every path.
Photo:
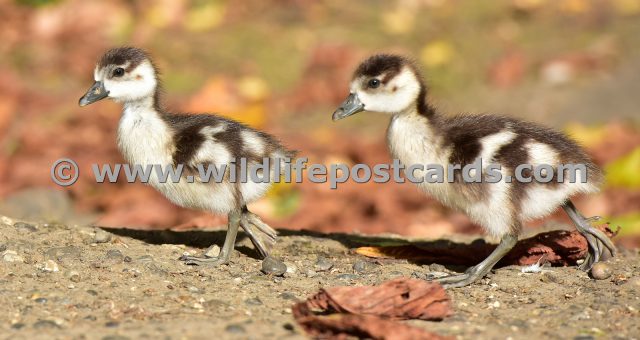
<instances>
[{"instance_id":1,"label":"blurred autumn background of orange, red and green behind the goslings","mask_svg":"<svg viewBox=\"0 0 640 340\"><path fill-rule=\"evenodd\" d=\"M216 112L317 163L390 162L388 117L333 123L359 61L415 58L446 114L499 113L562 129L607 171L584 214L640 240L640 0L0 0L0 214L145 229L215 227L142 184L96 184L123 162L120 106L79 108L108 48L147 49L173 110ZM59 188L50 167L80 164ZM411 184L277 185L252 210L280 228L441 237L480 230ZM531 228L567 223L562 213Z\"/></svg>"}]
</instances>

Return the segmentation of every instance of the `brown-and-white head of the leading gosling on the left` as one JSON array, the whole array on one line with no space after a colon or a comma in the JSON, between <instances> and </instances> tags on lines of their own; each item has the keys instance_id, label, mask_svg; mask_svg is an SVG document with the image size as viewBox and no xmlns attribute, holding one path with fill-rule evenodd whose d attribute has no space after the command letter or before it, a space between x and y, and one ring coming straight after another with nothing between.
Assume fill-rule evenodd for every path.
<instances>
[{"instance_id":1,"label":"brown-and-white head of the leading gosling on the left","mask_svg":"<svg viewBox=\"0 0 640 340\"><path fill-rule=\"evenodd\" d=\"M125 103L153 98L158 86L151 59L145 51L135 47L107 51L98 60L93 78L95 83L80 98L80 106L104 98Z\"/></svg>"}]
</instances>

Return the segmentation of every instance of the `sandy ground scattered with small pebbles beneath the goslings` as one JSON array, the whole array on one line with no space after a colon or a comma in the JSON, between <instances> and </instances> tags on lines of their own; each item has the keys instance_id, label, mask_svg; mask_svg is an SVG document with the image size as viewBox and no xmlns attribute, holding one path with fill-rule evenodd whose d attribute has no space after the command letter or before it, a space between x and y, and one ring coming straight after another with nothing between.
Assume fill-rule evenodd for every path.
<instances>
[{"instance_id":1,"label":"sandy ground scattered with small pebbles beneath the goslings","mask_svg":"<svg viewBox=\"0 0 640 340\"><path fill-rule=\"evenodd\" d=\"M305 338L291 306L321 287L446 270L353 253L372 237L281 234L273 255L289 272L273 277L260 272L261 261L243 237L230 265L196 267L177 260L221 244L222 230L103 230L2 217L1 337ZM449 291L452 317L409 323L460 339L640 338L639 257L637 250L622 250L605 280L576 268L533 274L500 268L482 282Z\"/></svg>"}]
</instances>

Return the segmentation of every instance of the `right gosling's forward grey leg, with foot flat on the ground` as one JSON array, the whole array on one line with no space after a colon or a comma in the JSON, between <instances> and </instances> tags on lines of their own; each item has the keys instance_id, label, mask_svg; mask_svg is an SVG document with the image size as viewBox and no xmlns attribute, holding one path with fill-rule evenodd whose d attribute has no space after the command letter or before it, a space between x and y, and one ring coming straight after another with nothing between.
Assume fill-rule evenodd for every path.
<instances>
[{"instance_id":1,"label":"right gosling's forward grey leg, with foot flat on the ground","mask_svg":"<svg viewBox=\"0 0 640 340\"><path fill-rule=\"evenodd\" d=\"M473 283L474 281L483 278L493 266L500 261L518 242L518 237L515 235L505 235L500 240L498 247L484 261L467 269L464 274L445 276L433 281L439 282L445 288L464 287Z\"/></svg>"}]
</instances>

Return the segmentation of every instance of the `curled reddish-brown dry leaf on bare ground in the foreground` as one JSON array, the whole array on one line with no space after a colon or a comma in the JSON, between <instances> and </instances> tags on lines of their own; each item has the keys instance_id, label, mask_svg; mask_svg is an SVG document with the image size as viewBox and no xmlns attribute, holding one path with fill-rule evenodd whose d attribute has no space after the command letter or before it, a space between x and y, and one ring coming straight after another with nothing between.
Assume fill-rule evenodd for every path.
<instances>
[{"instance_id":1,"label":"curled reddish-brown dry leaf on bare ground in the foreground","mask_svg":"<svg viewBox=\"0 0 640 340\"><path fill-rule=\"evenodd\" d=\"M409 278L378 286L321 289L292 311L310 335L334 339L444 339L393 319L442 320L453 313L440 284ZM313 311L343 315L321 316Z\"/></svg>"}]
</instances>

